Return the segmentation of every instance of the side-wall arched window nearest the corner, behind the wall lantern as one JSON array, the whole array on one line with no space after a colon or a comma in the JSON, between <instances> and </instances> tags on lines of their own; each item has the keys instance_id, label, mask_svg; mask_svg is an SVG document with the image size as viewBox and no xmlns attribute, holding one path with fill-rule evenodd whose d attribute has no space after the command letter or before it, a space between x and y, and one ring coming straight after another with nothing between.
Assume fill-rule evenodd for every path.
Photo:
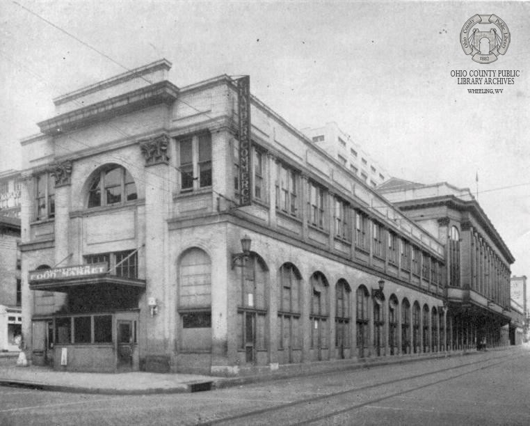
<instances>
[{"instance_id":1,"label":"side-wall arched window nearest the corner, behind the wall lantern","mask_svg":"<svg viewBox=\"0 0 530 426\"><path fill-rule=\"evenodd\" d=\"M267 267L262 258L251 253L245 266L238 268L239 302L237 308L237 340L244 351L242 363L264 364L266 357L258 358L259 352L268 348L266 340L266 284Z\"/></svg>"}]
</instances>

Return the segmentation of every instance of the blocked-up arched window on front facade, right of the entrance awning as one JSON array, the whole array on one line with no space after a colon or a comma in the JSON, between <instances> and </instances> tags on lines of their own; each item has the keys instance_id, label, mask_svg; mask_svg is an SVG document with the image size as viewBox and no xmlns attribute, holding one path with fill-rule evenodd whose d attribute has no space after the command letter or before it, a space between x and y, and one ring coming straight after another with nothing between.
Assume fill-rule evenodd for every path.
<instances>
[{"instance_id":1,"label":"blocked-up arched window on front facade, right of the entrance awning","mask_svg":"<svg viewBox=\"0 0 530 426\"><path fill-rule=\"evenodd\" d=\"M182 321L180 347L211 348L211 261L200 248L190 248L179 262L178 307Z\"/></svg>"}]
</instances>

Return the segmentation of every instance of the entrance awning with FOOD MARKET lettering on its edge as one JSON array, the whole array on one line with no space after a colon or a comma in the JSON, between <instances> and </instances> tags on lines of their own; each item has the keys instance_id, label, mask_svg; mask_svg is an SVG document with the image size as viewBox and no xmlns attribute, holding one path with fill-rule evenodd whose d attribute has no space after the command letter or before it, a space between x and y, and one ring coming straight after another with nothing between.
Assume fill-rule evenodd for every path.
<instances>
[{"instance_id":1,"label":"entrance awning with FOOD MARKET lettering on its edge","mask_svg":"<svg viewBox=\"0 0 530 426\"><path fill-rule=\"evenodd\" d=\"M29 272L30 290L71 292L79 287L114 287L145 290L145 280L110 274L106 263Z\"/></svg>"}]
</instances>

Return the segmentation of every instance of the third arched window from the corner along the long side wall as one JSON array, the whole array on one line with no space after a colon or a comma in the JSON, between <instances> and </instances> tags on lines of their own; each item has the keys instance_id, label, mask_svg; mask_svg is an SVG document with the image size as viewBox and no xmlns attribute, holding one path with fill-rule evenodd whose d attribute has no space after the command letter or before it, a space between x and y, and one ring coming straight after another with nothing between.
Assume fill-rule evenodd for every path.
<instances>
[{"instance_id":1,"label":"third arched window from the corner along the long side wall","mask_svg":"<svg viewBox=\"0 0 530 426\"><path fill-rule=\"evenodd\" d=\"M311 348L317 349L316 358L321 360L321 349L328 348L329 285L321 272L311 276Z\"/></svg>"}]
</instances>

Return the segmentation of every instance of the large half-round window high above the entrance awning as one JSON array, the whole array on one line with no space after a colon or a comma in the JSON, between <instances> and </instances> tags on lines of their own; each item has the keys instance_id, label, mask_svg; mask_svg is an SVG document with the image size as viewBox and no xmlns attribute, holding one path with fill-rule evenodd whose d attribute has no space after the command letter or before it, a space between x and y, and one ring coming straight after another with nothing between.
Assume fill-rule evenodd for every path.
<instances>
[{"instance_id":1,"label":"large half-round window high above the entrance awning","mask_svg":"<svg viewBox=\"0 0 530 426\"><path fill-rule=\"evenodd\" d=\"M131 173L118 164L100 168L88 188L88 207L123 204L136 198L138 194Z\"/></svg>"}]
</instances>

